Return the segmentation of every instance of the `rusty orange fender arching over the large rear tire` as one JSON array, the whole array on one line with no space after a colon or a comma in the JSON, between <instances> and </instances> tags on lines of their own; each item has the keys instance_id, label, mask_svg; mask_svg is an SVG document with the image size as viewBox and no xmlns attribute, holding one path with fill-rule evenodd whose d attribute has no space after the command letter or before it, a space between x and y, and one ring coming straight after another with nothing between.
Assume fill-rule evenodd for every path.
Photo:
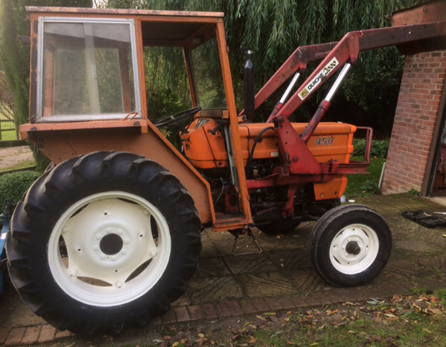
<instances>
[{"instance_id":1,"label":"rusty orange fender arching over the large rear tire","mask_svg":"<svg viewBox=\"0 0 446 347\"><path fill-rule=\"evenodd\" d=\"M135 153L151 159L173 173L186 187L202 223L215 223L209 183L150 122L146 134L141 133L136 122L131 120L71 123L70 130L66 124L25 124L20 130L26 128L34 142L39 142L41 137L41 151L55 164L73 156L108 150Z\"/></svg>"}]
</instances>

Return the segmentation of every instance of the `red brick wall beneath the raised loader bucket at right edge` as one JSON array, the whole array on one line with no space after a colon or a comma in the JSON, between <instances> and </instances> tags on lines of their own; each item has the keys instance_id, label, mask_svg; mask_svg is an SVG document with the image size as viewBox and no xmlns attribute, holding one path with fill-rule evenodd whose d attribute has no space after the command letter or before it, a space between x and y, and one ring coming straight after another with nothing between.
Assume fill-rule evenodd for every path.
<instances>
[{"instance_id":1,"label":"red brick wall beneath the raised loader bucket at right edge","mask_svg":"<svg viewBox=\"0 0 446 347\"><path fill-rule=\"evenodd\" d=\"M435 149L437 117L446 75L446 51L406 58L393 120L383 194L422 191L429 179L428 158ZM439 112L440 111L440 112ZM440 120L440 119L439 119ZM437 125L437 126L436 126Z\"/></svg>"}]
</instances>

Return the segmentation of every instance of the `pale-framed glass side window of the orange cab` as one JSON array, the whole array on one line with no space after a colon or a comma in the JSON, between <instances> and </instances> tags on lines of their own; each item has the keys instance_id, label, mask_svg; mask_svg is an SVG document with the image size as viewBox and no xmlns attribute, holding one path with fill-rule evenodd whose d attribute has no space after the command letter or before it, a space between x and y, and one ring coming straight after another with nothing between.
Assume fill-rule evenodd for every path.
<instances>
[{"instance_id":1,"label":"pale-framed glass side window of the orange cab","mask_svg":"<svg viewBox=\"0 0 446 347\"><path fill-rule=\"evenodd\" d=\"M39 18L37 82L37 121L141 117L134 21Z\"/></svg>"}]
</instances>

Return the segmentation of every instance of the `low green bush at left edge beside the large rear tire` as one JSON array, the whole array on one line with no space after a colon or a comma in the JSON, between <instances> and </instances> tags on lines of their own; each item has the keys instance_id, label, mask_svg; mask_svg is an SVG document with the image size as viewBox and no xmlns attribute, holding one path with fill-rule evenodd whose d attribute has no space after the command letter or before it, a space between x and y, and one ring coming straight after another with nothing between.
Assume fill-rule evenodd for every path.
<instances>
[{"instance_id":1,"label":"low green bush at left edge beside the large rear tire","mask_svg":"<svg viewBox=\"0 0 446 347\"><path fill-rule=\"evenodd\" d=\"M34 171L5 173L0 176L0 211L3 212L6 199L18 202L26 190L39 177ZM1 213L0 212L0 213Z\"/></svg>"}]
</instances>

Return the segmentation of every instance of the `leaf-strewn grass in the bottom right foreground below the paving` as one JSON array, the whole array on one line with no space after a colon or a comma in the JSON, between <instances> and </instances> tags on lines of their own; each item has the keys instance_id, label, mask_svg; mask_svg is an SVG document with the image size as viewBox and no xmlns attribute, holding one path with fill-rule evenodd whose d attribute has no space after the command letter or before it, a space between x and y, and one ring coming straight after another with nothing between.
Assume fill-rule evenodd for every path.
<instances>
[{"instance_id":1,"label":"leaf-strewn grass in the bottom right foreground below the paving","mask_svg":"<svg viewBox=\"0 0 446 347\"><path fill-rule=\"evenodd\" d=\"M171 326L151 337L152 341L136 338L121 346L444 347L445 305L446 289L435 293L426 289L391 299L271 312L201 326Z\"/></svg>"}]
</instances>

